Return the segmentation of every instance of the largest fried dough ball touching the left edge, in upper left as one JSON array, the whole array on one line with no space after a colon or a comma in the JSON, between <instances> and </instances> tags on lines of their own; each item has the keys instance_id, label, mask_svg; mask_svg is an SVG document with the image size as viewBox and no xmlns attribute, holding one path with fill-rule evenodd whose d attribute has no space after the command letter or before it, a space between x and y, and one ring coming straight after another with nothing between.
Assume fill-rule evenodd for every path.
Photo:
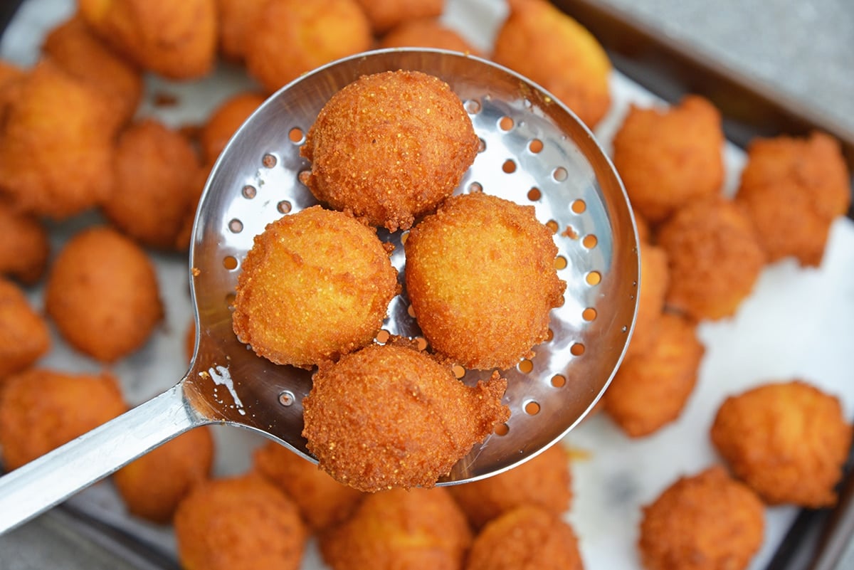
<instances>
[{"instance_id":1,"label":"largest fried dough ball touching the left edge, in upper left","mask_svg":"<svg viewBox=\"0 0 854 570\"><path fill-rule=\"evenodd\" d=\"M109 100L51 61L18 86L0 145L0 192L22 210L68 218L112 188L114 116Z\"/></svg>"}]
</instances>

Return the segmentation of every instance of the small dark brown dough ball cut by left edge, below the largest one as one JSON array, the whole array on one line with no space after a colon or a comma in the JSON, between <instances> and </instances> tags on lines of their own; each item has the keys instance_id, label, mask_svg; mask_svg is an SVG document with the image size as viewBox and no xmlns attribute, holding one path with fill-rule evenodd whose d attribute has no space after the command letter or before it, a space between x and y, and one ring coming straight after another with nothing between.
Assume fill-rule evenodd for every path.
<instances>
[{"instance_id":1,"label":"small dark brown dough ball cut by left edge, below the largest one","mask_svg":"<svg viewBox=\"0 0 854 570\"><path fill-rule=\"evenodd\" d=\"M38 218L0 200L0 274L33 285L44 275L50 255L48 232Z\"/></svg>"}]
</instances>

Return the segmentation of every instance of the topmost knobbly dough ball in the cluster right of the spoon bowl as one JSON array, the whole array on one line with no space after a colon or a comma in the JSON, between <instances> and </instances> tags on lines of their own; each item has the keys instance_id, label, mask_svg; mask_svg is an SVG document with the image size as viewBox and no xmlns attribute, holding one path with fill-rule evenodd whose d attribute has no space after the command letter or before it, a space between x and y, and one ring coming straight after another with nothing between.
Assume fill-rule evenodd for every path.
<instances>
[{"instance_id":1,"label":"topmost knobbly dough ball in the cluster right of the spoon bowl","mask_svg":"<svg viewBox=\"0 0 854 570\"><path fill-rule=\"evenodd\" d=\"M721 113L701 96L666 109L632 105L613 141L632 207L652 224L723 185Z\"/></svg>"}]
</instances>

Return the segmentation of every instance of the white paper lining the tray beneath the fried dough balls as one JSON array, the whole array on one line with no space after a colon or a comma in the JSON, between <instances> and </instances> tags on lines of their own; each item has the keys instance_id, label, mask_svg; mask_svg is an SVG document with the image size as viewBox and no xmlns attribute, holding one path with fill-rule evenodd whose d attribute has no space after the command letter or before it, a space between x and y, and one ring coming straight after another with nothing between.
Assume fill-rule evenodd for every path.
<instances>
[{"instance_id":1,"label":"white paper lining the tray beneath the fried dough balls","mask_svg":"<svg viewBox=\"0 0 854 570\"><path fill-rule=\"evenodd\" d=\"M22 66L38 59L45 32L73 13L73 0L27 0L0 39L0 57ZM447 0L445 19L478 49L488 51L494 31L506 15L504 3L490 0ZM191 84L150 79L146 103L139 110L167 125L202 122L231 94L253 84L243 71L221 66L211 77ZM150 103L156 94L177 98L170 107ZM619 73L611 78L613 106L596 129L610 150L610 140L629 104L663 104ZM737 183L744 156L738 148L722 149L728 176L726 192ZM81 227L101 221L97 214L51 226L54 252ZM184 334L192 308L188 267L180 254L152 253L158 271L166 319L142 350L114 366L131 404L138 404L172 387L187 368ZM722 398L763 381L803 378L843 399L845 414L854 416L854 382L850 364L851 323L854 322L854 223L839 218L828 241L822 265L803 269L792 259L769 265L753 294L732 318L699 325L705 358L695 392L681 418L645 439L629 439L604 415L583 422L564 440L575 452L573 500L567 520L580 539L588 568L640 569L636 555L640 507L683 474L705 468L717 457L707 433ZM30 298L41 307L41 289ZM95 371L100 365L68 349L55 336L54 348L39 364L69 371ZM237 428L215 428L216 474L241 473L260 436ZM266 440L265 440L266 441ZM174 555L167 527L149 525L127 516L109 482L70 499L75 508L126 529L156 550ZM797 513L792 507L766 510L766 538L751 568L763 568ZM68 553L69 558L74 555ZM325 568L314 544L309 544L302 568Z\"/></svg>"}]
</instances>

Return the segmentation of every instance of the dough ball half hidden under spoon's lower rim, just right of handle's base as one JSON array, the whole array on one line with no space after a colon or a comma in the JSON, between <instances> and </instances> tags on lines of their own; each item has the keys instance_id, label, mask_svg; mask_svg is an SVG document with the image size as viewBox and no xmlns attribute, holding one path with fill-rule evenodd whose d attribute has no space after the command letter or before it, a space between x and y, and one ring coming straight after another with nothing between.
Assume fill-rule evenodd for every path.
<instances>
[{"instance_id":1,"label":"dough ball half hidden under spoon's lower rim, just right of handle's base","mask_svg":"<svg viewBox=\"0 0 854 570\"><path fill-rule=\"evenodd\" d=\"M313 531L321 531L353 514L364 493L342 485L329 474L270 441L255 451L255 469L296 503L303 521Z\"/></svg>"}]
</instances>

